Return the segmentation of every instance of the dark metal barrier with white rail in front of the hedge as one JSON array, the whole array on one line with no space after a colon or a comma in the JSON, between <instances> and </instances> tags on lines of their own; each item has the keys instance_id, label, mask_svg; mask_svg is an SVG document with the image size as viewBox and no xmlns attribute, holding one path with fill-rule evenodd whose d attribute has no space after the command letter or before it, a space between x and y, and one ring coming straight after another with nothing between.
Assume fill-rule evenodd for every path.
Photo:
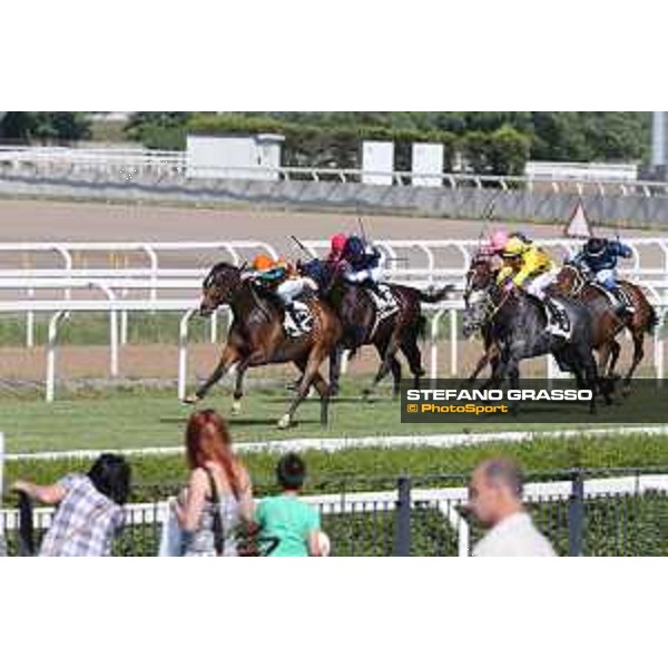
<instances>
[{"instance_id":1,"label":"dark metal barrier with white rail in front of the hedge","mask_svg":"<svg viewBox=\"0 0 668 668\"><path fill-rule=\"evenodd\" d=\"M524 501L538 528L561 556L668 556L668 474L649 470L566 471L533 479ZM471 554L482 531L470 522L464 475L395 480L327 480L326 493L304 500L318 509L335 556ZM317 483L315 483L317 484ZM376 484L375 491L356 491ZM135 491L151 501L127 507L126 529L115 552L157 553L166 498L178 485ZM48 529L51 509L39 509L35 525ZM0 534L17 553L18 511L0 511Z\"/></svg>"}]
</instances>

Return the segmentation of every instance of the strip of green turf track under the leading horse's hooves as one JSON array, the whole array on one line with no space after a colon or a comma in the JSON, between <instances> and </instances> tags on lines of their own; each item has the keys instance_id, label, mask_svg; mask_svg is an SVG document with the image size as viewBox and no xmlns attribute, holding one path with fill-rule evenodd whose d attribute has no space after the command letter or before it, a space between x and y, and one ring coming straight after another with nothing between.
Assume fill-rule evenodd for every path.
<instances>
[{"instance_id":1,"label":"strip of green turf track under the leading horse's hooves","mask_svg":"<svg viewBox=\"0 0 668 668\"><path fill-rule=\"evenodd\" d=\"M243 413L229 415L229 392L213 392L199 407L215 407L228 419L236 441L277 439L479 433L509 429L549 431L569 424L402 424L400 404L385 393L372 404L360 400L360 383L347 383L345 393L331 406L331 423L320 424L320 402L307 400L297 411L297 424L277 430L291 395L283 389L250 389ZM32 393L17 397L3 392L0 403L0 431L12 452L80 449L129 449L178 445L190 406L180 404L174 391L106 389L99 392L59 391L59 399L47 404ZM611 409L609 409L611 410ZM601 412L601 414L603 414ZM587 426L587 425L582 425Z\"/></svg>"}]
</instances>

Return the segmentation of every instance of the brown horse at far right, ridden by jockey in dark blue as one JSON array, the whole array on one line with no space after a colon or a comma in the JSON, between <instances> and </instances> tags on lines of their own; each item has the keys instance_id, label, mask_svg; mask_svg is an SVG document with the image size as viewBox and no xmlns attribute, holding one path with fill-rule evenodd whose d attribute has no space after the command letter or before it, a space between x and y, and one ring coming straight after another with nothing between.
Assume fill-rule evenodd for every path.
<instances>
[{"instance_id":1,"label":"brown horse at far right, ridden by jockey in dark blue","mask_svg":"<svg viewBox=\"0 0 668 668\"><path fill-rule=\"evenodd\" d=\"M657 313L639 286L628 281L619 282L635 312L630 317L618 315L606 292L592 283L583 268L573 262L564 263L554 286L559 292L580 299L593 314L595 347L599 351L599 367L612 376L621 346L617 334L628 328L633 341L633 358L623 376L622 392L630 390L631 379L645 355L645 334L651 334L658 324Z\"/></svg>"}]
</instances>

